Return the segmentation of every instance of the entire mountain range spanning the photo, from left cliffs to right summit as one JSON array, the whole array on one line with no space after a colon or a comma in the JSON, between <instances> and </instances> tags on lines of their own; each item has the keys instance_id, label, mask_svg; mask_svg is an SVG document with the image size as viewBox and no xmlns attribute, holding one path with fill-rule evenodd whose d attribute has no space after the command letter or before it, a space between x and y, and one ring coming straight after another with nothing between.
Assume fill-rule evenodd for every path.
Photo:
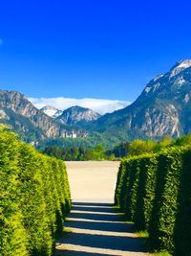
<instances>
[{"instance_id":1,"label":"entire mountain range spanning the photo, from left cliffs to right summit","mask_svg":"<svg viewBox=\"0 0 191 256\"><path fill-rule=\"evenodd\" d=\"M191 132L190 98L191 60L185 59L149 81L132 105L102 116L80 106L37 109L23 94L0 90L0 122L29 142L95 133L118 141L179 137Z\"/></svg>"}]
</instances>

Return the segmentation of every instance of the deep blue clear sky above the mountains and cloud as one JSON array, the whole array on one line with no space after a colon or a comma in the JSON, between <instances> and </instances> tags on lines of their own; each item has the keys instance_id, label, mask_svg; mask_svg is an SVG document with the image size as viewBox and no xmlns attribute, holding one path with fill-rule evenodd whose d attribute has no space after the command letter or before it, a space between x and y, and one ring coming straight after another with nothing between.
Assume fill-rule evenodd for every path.
<instances>
[{"instance_id":1,"label":"deep blue clear sky above the mountains and cloud","mask_svg":"<svg viewBox=\"0 0 191 256\"><path fill-rule=\"evenodd\" d=\"M191 58L190 1L1 1L0 88L134 101Z\"/></svg>"}]
</instances>

